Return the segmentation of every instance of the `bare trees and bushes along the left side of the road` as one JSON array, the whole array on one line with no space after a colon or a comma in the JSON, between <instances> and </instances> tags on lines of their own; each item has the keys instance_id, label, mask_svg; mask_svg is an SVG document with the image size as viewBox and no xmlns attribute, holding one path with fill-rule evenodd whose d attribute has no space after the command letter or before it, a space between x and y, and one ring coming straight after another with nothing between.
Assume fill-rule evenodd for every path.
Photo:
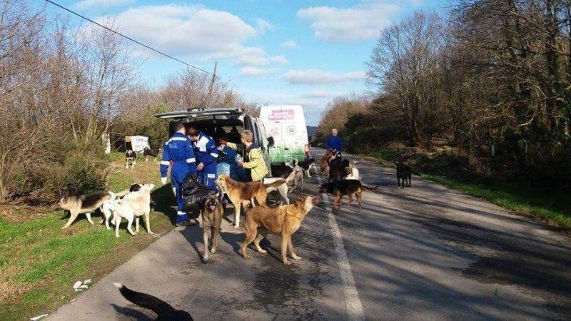
<instances>
[{"instance_id":1,"label":"bare trees and bushes along the left side of the road","mask_svg":"<svg viewBox=\"0 0 571 321\"><path fill-rule=\"evenodd\" d=\"M115 29L113 19L105 24ZM0 203L52 202L106 185L102 135L166 139L153 113L256 108L219 79L185 70L164 86L138 84L136 55L116 34L72 28L29 1L0 1Z\"/></svg>"}]
</instances>

